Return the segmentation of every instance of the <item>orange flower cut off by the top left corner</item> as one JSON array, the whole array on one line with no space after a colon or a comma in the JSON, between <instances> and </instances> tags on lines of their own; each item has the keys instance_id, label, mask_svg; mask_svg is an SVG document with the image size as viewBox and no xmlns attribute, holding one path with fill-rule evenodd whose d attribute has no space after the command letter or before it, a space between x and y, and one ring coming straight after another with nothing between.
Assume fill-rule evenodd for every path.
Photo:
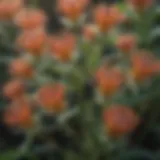
<instances>
[{"instance_id":1,"label":"orange flower cut off by the top left corner","mask_svg":"<svg viewBox=\"0 0 160 160\"><path fill-rule=\"evenodd\" d=\"M10 20L23 7L24 0L1 0L0 19Z\"/></svg>"}]
</instances>

